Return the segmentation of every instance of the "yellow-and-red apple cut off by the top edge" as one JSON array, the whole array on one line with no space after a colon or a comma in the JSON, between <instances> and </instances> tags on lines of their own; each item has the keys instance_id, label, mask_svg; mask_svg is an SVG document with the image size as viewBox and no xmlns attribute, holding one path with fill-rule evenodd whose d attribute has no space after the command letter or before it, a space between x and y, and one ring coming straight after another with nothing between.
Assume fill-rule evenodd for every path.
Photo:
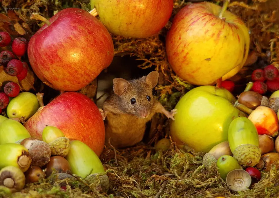
<instances>
[{"instance_id":1,"label":"yellow-and-red apple cut off by the top edge","mask_svg":"<svg viewBox=\"0 0 279 198\"><path fill-rule=\"evenodd\" d=\"M91 0L108 31L132 38L147 38L168 22L173 0Z\"/></svg>"}]
</instances>

